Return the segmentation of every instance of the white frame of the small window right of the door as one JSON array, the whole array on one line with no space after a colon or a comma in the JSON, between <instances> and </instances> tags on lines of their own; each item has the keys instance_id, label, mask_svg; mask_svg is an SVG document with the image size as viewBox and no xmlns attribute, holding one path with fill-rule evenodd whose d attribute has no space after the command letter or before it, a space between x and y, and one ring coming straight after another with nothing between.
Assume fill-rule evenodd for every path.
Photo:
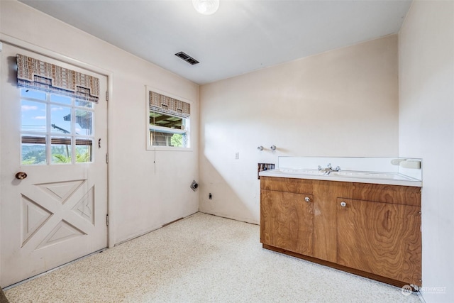
<instances>
[{"instance_id":1,"label":"white frame of the small window right of the door","mask_svg":"<svg viewBox=\"0 0 454 303\"><path fill-rule=\"evenodd\" d=\"M177 96L175 94L171 94L169 92L164 92L161 89L156 89L155 87L145 86L145 109L146 109L145 110L145 136L146 136L145 149L146 150L162 150L162 151L193 151L194 149L193 149L192 136L191 136L193 119L191 119L191 116L189 116L188 118L183 118L183 119L187 119L188 125L189 125L189 127L184 129L184 131L179 130L179 129L175 129L175 131L172 131L172 128L165 128L162 126L153 126L152 124L150 124L150 111L151 111L150 110L150 92L155 92L157 94L165 95L166 97L184 101L184 102L188 103L192 108L194 106L194 102L190 101L186 98L179 97L179 96ZM172 116L172 114L169 114L169 115ZM181 133L181 134L185 133L187 136L187 144L189 145L189 147L182 148L182 147L152 145L151 136L150 136L152 127L157 128L157 129L165 128L165 132L167 132L167 133Z\"/></svg>"}]
</instances>

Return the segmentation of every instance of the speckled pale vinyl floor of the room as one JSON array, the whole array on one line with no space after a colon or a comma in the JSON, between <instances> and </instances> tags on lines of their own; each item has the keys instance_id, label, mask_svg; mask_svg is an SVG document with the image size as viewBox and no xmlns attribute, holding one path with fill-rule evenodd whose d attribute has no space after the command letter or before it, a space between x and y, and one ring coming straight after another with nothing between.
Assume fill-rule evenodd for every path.
<instances>
[{"instance_id":1,"label":"speckled pale vinyl floor of the room","mask_svg":"<svg viewBox=\"0 0 454 303\"><path fill-rule=\"evenodd\" d=\"M14 302L416 302L262 249L260 227L197 213L6 291Z\"/></svg>"}]
</instances>

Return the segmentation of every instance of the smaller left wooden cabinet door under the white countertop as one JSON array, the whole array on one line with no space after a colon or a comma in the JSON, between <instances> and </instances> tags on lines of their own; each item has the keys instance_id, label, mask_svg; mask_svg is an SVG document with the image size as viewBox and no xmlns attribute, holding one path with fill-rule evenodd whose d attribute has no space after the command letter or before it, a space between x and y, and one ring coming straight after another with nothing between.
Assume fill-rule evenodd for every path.
<instances>
[{"instance_id":1,"label":"smaller left wooden cabinet door under the white countertop","mask_svg":"<svg viewBox=\"0 0 454 303\"><path fill-rule=\"evenodd\" d=\"M314 202L311 194L272 190L260 192L260 241L262 243L312 256L313 222Z\"/></svg>"}]
</instances>

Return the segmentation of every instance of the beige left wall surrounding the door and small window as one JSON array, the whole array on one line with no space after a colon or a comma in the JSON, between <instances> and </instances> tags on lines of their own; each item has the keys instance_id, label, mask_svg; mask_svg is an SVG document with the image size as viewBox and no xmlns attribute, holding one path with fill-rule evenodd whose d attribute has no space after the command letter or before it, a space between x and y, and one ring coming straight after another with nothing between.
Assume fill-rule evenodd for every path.
<instances>
[{"instance_id":1,"label":"beige left wall surrounding the door and small window","mask_svg":"<svg viewBox=\"0 0 454 303\"><path fill-rule=\"evenodd\" d=\"M23 40L32 49L37 45L107 70L111 75L111 243L125 241L198 210L198 192L189 188L192 180L198 180L198 85L20 2L1 1L0 18L2 39ZM153 151L145 150L145 85L194 102L193 151L162 151L154 155Z\"/></svg>"}]
</instances>

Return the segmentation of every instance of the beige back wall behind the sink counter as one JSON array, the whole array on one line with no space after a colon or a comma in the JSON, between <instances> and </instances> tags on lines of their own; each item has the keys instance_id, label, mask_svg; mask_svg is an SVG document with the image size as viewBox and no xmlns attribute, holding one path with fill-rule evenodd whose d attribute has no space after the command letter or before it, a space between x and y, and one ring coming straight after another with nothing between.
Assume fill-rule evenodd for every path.
<instances>
[{"instance_id":1,"label":"beige back wall behind the sink counter","mask_svg":"<svg viewBox=\"0 0 454 303\"><path fill-rule=\"evenodd\" d=\"M390 35L201 86L200 210L258 223L278 156L396 156L397 53Z\"/></svg>"}]
</instances>

